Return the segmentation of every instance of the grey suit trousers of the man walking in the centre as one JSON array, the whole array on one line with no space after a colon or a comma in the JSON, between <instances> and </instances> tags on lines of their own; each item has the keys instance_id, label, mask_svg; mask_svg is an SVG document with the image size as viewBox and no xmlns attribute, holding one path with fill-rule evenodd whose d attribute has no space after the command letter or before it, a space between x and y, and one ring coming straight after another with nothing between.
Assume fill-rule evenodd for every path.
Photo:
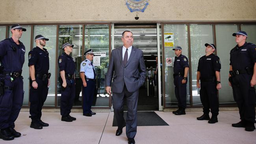
<instances>
[{"instance_id":1,"label":"grey suit trousers of the man walking in the centre","mask_svg":"<svg viewBox=\"0 0 256 144\"><path fill-rule=\"evenodd\" d=\"M118 129L124 126L124 98L126 99L127 115L126 115L126 136L134 138L137 133L137 103L139 90L128 92L126 86L121 93L112 93L112 104L115 118L117 119Z\"/></svg>"}]
</instances>

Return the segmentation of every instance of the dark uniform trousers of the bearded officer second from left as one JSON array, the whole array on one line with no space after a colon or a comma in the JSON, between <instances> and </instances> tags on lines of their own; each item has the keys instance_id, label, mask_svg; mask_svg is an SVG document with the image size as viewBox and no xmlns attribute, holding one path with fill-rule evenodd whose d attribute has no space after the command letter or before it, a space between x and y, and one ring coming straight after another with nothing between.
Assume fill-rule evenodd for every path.
<instances>
[{"instance_id":1,"label":"dark uniform trousers of the bearded officer second from left","mask_svg":"<svg viewBox=\"0 0 256 144\"><path fill-rule=\"evenodd\" d=\"M32 80L30 79L30 114L32 122L38 122L42 116L42 107L48 95L48 78L44 80L35 77L38 84L37 89L32 87Z\"/></svg>"}]
</instances>

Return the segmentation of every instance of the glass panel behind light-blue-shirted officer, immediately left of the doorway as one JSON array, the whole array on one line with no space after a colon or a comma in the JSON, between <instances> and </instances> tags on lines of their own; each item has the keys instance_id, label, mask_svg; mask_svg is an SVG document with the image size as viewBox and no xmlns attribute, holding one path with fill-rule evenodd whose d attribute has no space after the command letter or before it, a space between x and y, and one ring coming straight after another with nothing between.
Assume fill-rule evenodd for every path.
<instances>
[{"instance_id":1,"label":"glass panel behind light-blue-shirted officer, immediately left of the doorway","mask_svg":"<svg viewBox=\"0 0 256 144\"><path fill-rule=\"evenodd\" d=\"M109 107L109 95L105 91L105 76L108 71L109 61L109 25L85 25L85 51L93 49L98 52L94 57L96 70L96 88L92 106ZM101 54L99 54L99 52ZM86 59L85 56L83 59ZM95 60L98 59L98 65ZM81 63L81 62L80 62ZM80 64L79 63L79 64ZM82 84L81 84L82 85Z\"/></svg>"}]
</instances>

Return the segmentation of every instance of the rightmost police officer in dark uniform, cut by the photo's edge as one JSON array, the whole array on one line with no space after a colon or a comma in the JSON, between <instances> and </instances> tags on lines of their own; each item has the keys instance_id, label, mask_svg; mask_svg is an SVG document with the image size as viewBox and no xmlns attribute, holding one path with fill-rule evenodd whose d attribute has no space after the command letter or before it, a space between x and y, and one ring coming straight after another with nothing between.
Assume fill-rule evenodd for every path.
<instances>
[{"instance_id":1,"label":"rightmost police officer in dark uniform, cut by the photo's edge","mask_svg":"<svg viewBox=\"0 0 256 144\"><path fill-rule=\"evenodd\" d=\"M255 126L255 89L256 84L256 45L247 43L247 33L233 33L237 45L230 51L230 74L234 99L239 108L241 121L233 127L245 127L254 131Z\"/></svg>"}]
</instances>

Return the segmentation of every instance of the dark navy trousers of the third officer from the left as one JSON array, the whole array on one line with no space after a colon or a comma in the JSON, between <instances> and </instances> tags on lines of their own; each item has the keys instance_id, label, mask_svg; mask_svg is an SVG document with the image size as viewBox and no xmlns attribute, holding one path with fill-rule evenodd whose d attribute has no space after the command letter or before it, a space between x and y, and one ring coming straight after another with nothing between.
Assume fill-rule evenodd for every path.
<instances>
[{"instance_id":1,"label":"dark navy trousers of the third officer from the left","mask_svg":"<svg viewBox=\"0 0 256 144\"><path fill-rule=\"evenodd\" d=\"M70 114L76 92L74 79L66 79L66 81L67 87L63 91L61 91L60 114L62 116L67 116L68 114Z\"/></svg>"}]
</instances>

